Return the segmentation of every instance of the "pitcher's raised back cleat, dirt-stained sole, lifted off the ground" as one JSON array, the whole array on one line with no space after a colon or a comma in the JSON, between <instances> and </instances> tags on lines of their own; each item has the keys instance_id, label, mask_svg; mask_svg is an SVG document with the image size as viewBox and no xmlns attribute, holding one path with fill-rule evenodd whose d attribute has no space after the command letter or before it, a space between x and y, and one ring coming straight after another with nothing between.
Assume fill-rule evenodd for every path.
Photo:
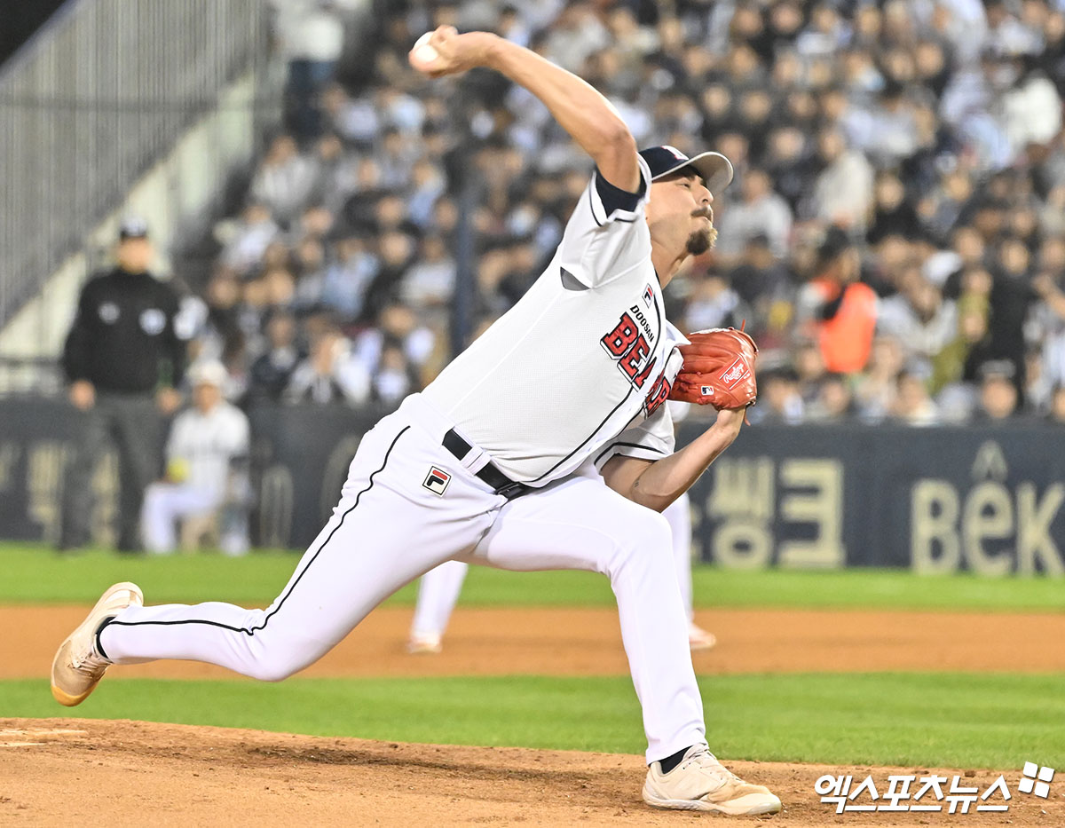
<instances>
[{"instance_id":1,"label":"pitcher's raised back cleat, dirt-stained sole, lifted off the ground","mask_svg":"<svg viewBox=\"0 0 1065 828\"><path fill-rule=\"evenodd\" d=\"M144 594L135 583L116 583L96 602L88 617L67 636L52 661L52 695L72 708L84 701L111 664L96 649L96 632L108 618L127 607L144 606Z\"/></svg>"}]
</instances>

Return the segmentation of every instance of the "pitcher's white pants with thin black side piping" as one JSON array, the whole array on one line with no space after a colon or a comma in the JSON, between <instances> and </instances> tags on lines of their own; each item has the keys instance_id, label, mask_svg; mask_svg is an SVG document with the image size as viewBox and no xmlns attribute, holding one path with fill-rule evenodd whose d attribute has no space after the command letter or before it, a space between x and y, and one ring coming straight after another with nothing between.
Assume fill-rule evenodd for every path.
<instances>
[{"instance_id":1,"label":"pitcher's white pants with thin black side piping","mask_svg":"<svg viewBox=\"0 0 1065 828\"><path fill-rule=\"evenodd\" d=\"M203 661L278 681L443 561L590 569L610 579L618 600L648 762L704 742L681 592L663 559L665 518L608 488L590 464L507 500L474 476L482 452L474 448L460 463L442 447L449 428L421 395L378 423L351 461L332 517L267 609L130 607L100 632L105 657L116 664ZM442 494L425 485L433 468L449 476Z\"/></svg>"}]
</instances>

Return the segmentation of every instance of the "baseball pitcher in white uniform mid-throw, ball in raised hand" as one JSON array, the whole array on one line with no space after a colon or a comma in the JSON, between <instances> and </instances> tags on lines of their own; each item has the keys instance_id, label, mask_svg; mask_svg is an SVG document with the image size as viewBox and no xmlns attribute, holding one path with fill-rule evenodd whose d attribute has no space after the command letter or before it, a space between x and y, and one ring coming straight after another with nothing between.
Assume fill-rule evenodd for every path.
<instances>
[{"instance_id":1,"label":"baseball pitcher in white uniform mid-throw, ball in raised hand","mask_svg":"<svg viewBox=\"0 0 1065 828\"><path fill-rule=\"evenodd\" d=\"M707 747L659 514L732 444L754 399L753 343L715 331L689 344L662 315L662 287L712 244L712 192L732 180L732 165L671 147L638 153L595 89L493 34L441 27L410 61L431 77L502 72L592 158L558 250L507 314L363 437L332 517L269 608L144 607L134 584L116 584L60 647L53 695L77 705L109 665L153 659L278 681L448 560L589 569L610 579L618 600L648 739L644 800L774 813L776 796ZM682 349L699 358L692 371L682 372ZM720 409L677 451L665 404L675 385Z\"/></svg>"}]
</instances>

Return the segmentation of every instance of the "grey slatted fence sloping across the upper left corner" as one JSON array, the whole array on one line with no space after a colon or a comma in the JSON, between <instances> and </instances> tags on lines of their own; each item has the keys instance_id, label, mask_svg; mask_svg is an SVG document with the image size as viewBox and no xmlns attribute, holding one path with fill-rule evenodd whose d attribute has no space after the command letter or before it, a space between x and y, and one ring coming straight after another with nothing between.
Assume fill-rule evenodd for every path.
<instances>
[{"instance_id":1,"label":"grey slatted fence sloping across the upper left corner","mask_svg":"<svg viewBox=\"0 0 1065 828\"><path fill-rule=\"evenodd\" d=\"M267 15L80 0L0 69L0 328L227 85L264 70Z\"/></svg>"}]
</instances>

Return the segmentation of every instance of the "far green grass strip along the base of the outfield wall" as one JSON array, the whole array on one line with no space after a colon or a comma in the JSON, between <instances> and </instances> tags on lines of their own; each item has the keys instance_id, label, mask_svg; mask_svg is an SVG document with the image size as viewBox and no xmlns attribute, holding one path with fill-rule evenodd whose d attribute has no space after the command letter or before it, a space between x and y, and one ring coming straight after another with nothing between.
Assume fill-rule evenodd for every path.
<instances>
[{"instance_id":1,"label":"far green grass strip along the base of the outfield wall","mask_svg":"<svg viewBox=\"0 0 1065 828\"><path fill-rule=\"evenodd\" d=\"M150 603L227 600L267 606L296 566L294 552L142 558L91 551L59 556L45 546L0 544L0 603L86 603L115 581L135 581ZM1045 578L917 576L888 569L747 572L697 566L697 607L850 608L1065 612L1065 581ZM412 606L414 587L391 599ZM605 607L606 579L590 573L504 573L472 567L468 607Z\"/></svg>"}]
</instances>

